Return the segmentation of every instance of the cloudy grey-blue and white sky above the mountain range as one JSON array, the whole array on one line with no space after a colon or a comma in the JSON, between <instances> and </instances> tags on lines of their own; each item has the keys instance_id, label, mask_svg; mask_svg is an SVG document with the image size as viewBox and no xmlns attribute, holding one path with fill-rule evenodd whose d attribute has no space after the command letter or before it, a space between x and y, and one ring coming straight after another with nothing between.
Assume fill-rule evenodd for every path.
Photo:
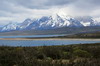
<instances>
[{"instance_id":1,"label":"cloudy grey-blue and white sky above the mountain range","mask_svg":"<svg viewBox=\"0 0 100 66\"><path fill-rule=\"evenodd\" d=\"M56 12L100 17L100 0L0 0L0 25Z\"/></svg>"}]
</instances>

